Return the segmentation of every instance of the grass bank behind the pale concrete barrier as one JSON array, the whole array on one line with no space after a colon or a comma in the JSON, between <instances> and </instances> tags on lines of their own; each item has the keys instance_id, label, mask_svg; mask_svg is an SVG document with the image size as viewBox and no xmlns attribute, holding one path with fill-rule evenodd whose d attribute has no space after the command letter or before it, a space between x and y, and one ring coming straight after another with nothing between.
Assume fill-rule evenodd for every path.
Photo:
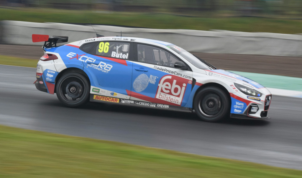
<instances>
[{"instance_id":1,"label":"grass bank behind the pale concrete barrier","mask_svg":"<svg viewBox=\"0 0 302 178\"><path fill-rule=\"evenodd\" d=\"M1 20L125 25L158 29L301 33L302 20L257 17L188 17L159 13L104 12L42 8L1 8Z\"/></svg>"}]
</instances>

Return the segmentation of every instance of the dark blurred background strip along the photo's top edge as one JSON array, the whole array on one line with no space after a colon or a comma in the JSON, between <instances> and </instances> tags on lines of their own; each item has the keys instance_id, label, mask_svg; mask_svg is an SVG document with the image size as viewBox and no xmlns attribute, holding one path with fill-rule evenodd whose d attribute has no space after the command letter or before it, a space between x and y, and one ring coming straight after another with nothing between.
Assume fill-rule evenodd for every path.
<instances>
[{"instance_id":1,"label":"dark blurred background strip along the photo's top edge","mask_svg":"<svg viewBox=\"0 0 302 178\"><path fill-rule=\"evenodd\" d=\"M195 16L300 16L301 0L2 0L2 6L155 12Z\"/></svg>"}]
</instances>

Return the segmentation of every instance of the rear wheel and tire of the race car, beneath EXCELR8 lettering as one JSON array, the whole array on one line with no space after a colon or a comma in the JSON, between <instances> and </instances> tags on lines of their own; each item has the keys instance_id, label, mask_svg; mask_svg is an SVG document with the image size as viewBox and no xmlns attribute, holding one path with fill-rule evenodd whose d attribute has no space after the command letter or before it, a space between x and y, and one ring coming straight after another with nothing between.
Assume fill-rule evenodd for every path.
<instances>
[{"instance_id":1,"label":"rear wheel and tire of the race car, beneath EXCELR8 lettering","mask_svg":"<svg viewBox=\"0 0 302 178\"><path fill-rule=\"evenodd\" d=\"M58 99L69 107L78 107L88 102L89 91L88 79L81 73L66 73L56 84Z\"/></svg>"}]
</instances>

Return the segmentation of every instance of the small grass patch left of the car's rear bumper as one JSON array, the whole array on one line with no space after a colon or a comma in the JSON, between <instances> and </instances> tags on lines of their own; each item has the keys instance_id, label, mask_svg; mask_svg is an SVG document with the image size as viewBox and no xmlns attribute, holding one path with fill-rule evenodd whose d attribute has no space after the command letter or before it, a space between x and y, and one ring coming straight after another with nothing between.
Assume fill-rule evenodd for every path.
<instances>
[{"instance_id":1,"label":"small grass patch left of the car's rear bumper","mask_svg":"<svg viewBox=\"0 0 302 178\"><path fill-rule=\"evenodd\" d=\"M38 60L0 55L0 64L10 66L37 67Z\"/></svg>"}]
</instances>

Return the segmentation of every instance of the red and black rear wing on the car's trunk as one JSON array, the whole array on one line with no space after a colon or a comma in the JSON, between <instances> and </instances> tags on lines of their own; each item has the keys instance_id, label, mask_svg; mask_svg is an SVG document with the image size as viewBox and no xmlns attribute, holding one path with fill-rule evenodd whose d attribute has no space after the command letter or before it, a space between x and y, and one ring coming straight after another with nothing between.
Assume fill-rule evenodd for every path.
<instances>
[{"instance_id":1,"label":"red and black rear wing on the car's trunk","mask_svg":"<svg viewBox=\"0 0 302 178\"><path fill-rule=\"evenodd\" d=\"M31 36L33 42L41 42L44 41L43 47L51 48L57 47L57 43L65 43L68 41L68 37L63 36L53 36L49 37L49 35L39 35L39 34L32 34Z\"/></svg>"}]
</instances>

